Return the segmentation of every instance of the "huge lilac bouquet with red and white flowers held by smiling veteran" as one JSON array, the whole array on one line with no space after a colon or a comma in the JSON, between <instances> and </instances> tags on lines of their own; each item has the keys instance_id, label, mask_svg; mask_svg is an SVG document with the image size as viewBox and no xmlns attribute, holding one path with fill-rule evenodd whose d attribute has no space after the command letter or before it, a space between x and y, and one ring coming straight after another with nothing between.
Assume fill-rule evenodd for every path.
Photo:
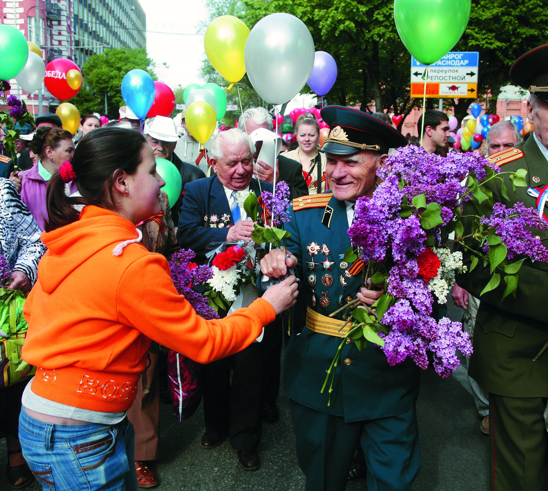
<instances>
[{"instance_id":1,"label":"huge lilac bouquet with red and white flowers held by smiling veteran","mask_svg":"<svg viewBox=\"0 0 548 491\"><path fill-rule=\"evenodd\" d=\"M364 261L363 286L384 292L372 308L362 306L348 315L351 307L361 306L355 299L332 313L346 309L344 317L352 326L328 370L326 384L347 338L355 340L360 351L367 341L378 344L392 366L409 357L426 368L430 354L442 377L458 366L456 350L472 353L470 339L459 322L448 318L436 321L431 316L433 302L447 301L455 273L467 271L463 254L448 246L458 242L473 254L470 271L479 261L490 266L492 278L482 294L496 288L504 272L504 296L515 295L516 273L524 260L510 263L516 256L548 261L540 239L526 229L546 230L548 224L522 203L513 208L495 203L485 187L500 179L501 193L507 198L503 174L509 175L513 191L527 186L524 169L500 172L477 153L451 152L441 157L408 146L387 157L386 165L378 171L383 182L372 196L356 202L348 231L352 248L345 254L347 262L358 256ZM474 203L476 209L487 204L493 211L488 217L463 215L466 202ZM464 235L466 220L471 222L468 235ZM455 238L450 238L453 235ZM477 247L467 239L477 241Z\"/></svg>"}]
</instances>

